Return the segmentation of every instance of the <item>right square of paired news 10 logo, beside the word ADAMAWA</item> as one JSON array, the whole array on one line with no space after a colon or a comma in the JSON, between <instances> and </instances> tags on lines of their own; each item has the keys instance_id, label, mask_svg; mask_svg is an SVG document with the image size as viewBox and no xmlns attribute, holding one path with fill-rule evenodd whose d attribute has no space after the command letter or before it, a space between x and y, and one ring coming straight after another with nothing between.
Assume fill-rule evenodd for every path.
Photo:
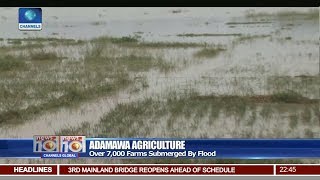
<instances>
[{"instance_id":1,"label":"right square of paired news 10 logo, beside the word ADAMAWA","mask_svg":"<svg viewBox=\"0 0 320 180\"><path fill-rule=\"evenodd\" d=\"M86 152L85 136L60 136L60 152Z\"/></svg>"}]
</instances>

